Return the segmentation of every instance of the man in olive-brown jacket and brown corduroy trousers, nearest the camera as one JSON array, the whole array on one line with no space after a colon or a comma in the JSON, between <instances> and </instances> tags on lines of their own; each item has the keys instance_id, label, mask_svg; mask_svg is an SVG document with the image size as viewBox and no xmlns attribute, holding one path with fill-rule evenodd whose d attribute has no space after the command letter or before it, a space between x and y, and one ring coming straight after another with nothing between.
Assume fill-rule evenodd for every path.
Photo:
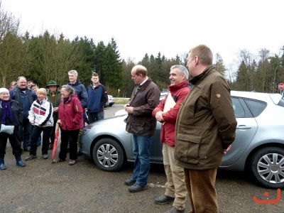
<instances>
[{"instance_id":1,"label":"man in olive-brown jacket and brown corduroy trousers, nearest the camera","mask_svg":"<svg viewBox=\"0 0 284 213\"><path fill-rule=\"evenodd\" d=\"M191 212L218 212L217 168L236 136L230 88L212 61L212 51L206 45L188 53L192 89L175 126L175 159L184 168Z\"/></svg>"}]
</instances>

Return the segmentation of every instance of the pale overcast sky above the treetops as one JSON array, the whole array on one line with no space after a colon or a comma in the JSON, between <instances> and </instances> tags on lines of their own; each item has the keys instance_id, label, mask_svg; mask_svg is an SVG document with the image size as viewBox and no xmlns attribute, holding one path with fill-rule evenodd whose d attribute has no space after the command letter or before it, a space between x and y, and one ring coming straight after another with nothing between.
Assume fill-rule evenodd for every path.
<instances>
[{"instance_id":1,"label":"pale overcast sky above the treetops","mask_svg":"<svg viewBox=\"0 0 284 213\"><path fill-rule=\"evenodd\" d=\"M47 29L95 44L114 37L121 58L136 62L146 53L175 58L202 43L229 65L239 50L278 55L284 45L283 0L2 0L2 8L35 36Z\"/></svg>"}]
</instances>

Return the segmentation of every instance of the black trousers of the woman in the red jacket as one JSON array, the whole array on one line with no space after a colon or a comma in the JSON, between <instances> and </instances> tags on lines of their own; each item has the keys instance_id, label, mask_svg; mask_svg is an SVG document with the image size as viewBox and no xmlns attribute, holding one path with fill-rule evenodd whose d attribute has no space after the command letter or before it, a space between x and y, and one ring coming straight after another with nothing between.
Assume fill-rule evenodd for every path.
<instances>
[{"instance_id":1,"label":"black trousers of the woman in the red jacket","mask_svg":"<svg viewBox=\"0 0 284 213\"><path fill-rule=\"evenodd\" d=\"M69 141L70 159L76 160L77 159L77 140L78 140L80 129L64 130L64 129L60 128L60 131L61 131L61 143L60 143L59 158L62 159L62 160L66 159L67 146L68 146L68 141Z\"/></svg>"}]
</instances>

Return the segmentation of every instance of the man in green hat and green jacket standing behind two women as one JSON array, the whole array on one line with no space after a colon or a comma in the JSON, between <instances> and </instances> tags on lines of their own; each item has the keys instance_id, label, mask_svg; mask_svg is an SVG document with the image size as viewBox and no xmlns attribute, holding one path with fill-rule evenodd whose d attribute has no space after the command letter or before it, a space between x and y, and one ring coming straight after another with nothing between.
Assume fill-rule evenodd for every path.
<instances>
[{"instance_id":1,"label":"man in green hat and green jacket standing behind two women","mask_svg":"<svg viewBox=\"0 0 284 213\"><path fill-rule=\"evenodd\" d=\"M61 99L61 92L58 89L59 85L54 81L50 80L48 82L48 85L46 85L46 88L48 88L47 97L48 101L50 101L53 104L53 130L50 133L50 145L49 149L53 149L53 142L55 140L55 129L56 124L58 123L58 109L59 109L59 103Z\"/></svg>"}]
</instances>

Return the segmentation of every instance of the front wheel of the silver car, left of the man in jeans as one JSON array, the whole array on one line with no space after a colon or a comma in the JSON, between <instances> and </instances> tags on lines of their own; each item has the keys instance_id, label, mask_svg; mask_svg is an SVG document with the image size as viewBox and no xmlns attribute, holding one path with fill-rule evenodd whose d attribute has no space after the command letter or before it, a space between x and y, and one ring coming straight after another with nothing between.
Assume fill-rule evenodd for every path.
<instances>
[{"instance_id":1,"label":"front wheel of the silver car, left of the man in jeans","mask_svg":"<svg viewBox=\"0 0 284 213\"><path fill-rule=\"evenodd\" d=\"M124 151L114 139L102 138L94 144L93 159L101 170L113 172L124 163Z\"/></svg>"}]
</instances>

